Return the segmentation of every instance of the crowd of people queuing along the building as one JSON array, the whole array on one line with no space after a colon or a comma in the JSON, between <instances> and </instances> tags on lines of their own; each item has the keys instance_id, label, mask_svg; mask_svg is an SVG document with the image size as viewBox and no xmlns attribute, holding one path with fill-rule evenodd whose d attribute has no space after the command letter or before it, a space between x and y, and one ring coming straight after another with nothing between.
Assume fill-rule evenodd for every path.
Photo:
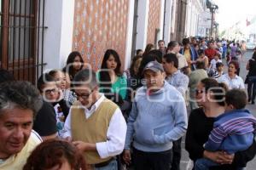
<instances>
[{"instance_id":1,"label":"crowd of people queuing along the building","mask_svg":"<svg viewBox=\"0 0 256 170\"><path fill-rule=\"evenodd\" d=\"M158 46L138 49L125 71L114 49L99 71L73 51L37 88L0 70L0 169L179 170L183 137L195 170L246 167L256 154L245 109L256 96L256 49L244 82L239 42Z\"/></svg>"}]
</instances>

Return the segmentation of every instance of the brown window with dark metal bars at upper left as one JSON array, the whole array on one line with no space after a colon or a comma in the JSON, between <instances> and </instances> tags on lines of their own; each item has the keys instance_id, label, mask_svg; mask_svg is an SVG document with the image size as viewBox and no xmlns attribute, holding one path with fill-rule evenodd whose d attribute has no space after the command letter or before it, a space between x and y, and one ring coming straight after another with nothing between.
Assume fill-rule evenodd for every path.
<instances>
[{"instance_id":1,"label":"brown window with dark metal bars at upper left","mask_svg":"<svg viewBox=\"0 0 256 170\"><path fill-rule=\"evenodd\" d=\"M44 0L2 0L0 67L36 83L44 70Z\"/></svg>"}]
</instances>

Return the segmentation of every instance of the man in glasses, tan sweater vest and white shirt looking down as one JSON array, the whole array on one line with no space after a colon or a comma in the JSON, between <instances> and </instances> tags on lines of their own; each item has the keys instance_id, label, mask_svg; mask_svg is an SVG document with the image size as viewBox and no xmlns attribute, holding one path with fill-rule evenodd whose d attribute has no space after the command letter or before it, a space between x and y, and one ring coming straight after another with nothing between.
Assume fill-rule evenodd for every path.
<instances>
[{"instance_id":1,"label":"man in glasses, tan sweater vest and white shirt looking down","mask_svg":"<svg viewBox=\"0 0 256 170\"><path fill-rule=\"evenodd\" d=\"M84 152L91 168L117 170L115 156L124 150L125 118L118 105L99 93L94 71L79 71L73 82L79 101L70 109L63 137Z\"/></svg>"}]
</instances>

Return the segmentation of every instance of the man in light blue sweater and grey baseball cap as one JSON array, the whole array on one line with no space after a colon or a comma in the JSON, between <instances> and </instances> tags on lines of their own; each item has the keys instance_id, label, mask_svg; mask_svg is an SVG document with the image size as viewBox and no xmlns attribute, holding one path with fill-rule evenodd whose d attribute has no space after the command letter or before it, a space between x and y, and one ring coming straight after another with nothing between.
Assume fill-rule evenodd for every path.
<instances>
[{"instance_id":1,"label":"man in light blue sweater and grey baseball cap","mask_svg":"<svg viewBox=\"0 0 256 170\"><path fill-rule=\"evenodd\" d=\"M137 169L169 170L172 141L186 131L187 111L182 94L165 81L165 72L157 61L143 71L146 86L137 90L128 118L124 160Z\"/></svg>"}]
</instances>

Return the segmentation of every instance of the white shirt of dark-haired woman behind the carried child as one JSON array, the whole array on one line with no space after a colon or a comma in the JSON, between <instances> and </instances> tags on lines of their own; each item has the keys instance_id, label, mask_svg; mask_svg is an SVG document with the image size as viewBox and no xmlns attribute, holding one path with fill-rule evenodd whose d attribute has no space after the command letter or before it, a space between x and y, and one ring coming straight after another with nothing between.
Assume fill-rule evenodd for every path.
<instances>
[{"instance_id":1,"label":"white shirt of dark-haired woman behind the carried child","mask_svg":"<svg viewBox=\"0 0 256 170\"><path fill-rule=\"evenodd\" d=\"M233 88L244 89L245 88L242 78L238 77L237 75L235 78L231 79L229 77L229 74L226 73L223 76L218 78L218 82L224 82L229 87L229 89L233 89Z\"/></svg>"}]
</instances>

